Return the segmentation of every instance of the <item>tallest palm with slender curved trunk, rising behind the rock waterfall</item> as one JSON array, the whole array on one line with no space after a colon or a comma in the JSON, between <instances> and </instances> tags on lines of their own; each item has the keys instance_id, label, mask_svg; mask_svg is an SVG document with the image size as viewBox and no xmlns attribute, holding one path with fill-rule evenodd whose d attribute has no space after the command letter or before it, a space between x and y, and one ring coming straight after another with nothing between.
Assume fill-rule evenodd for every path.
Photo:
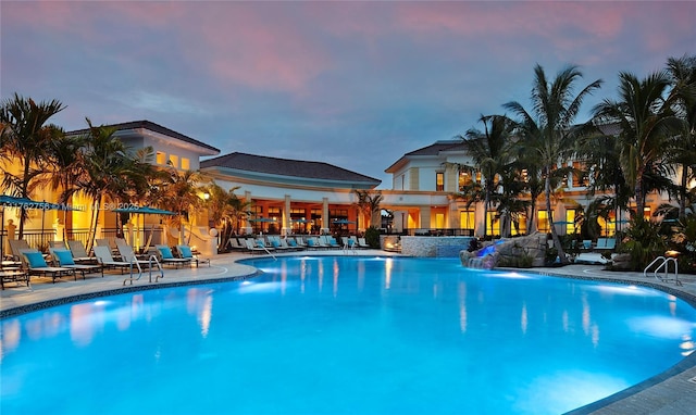
<instances>
[{"instance_id":1,"label":"tallest palm with slender curved trunk, rising behind the rock waterfall","mask_svg":"<svg viewBox=\"0 0 696 415\"><path fill-rule=\"evenodd\" d=\"M544 177L544 194L549 223L554 222L551 210L551 176L559 164L568 161L575 148L577 130L573 127L583 100L601 86L597 79L574 96L575 83L582 73L575 65L561 70L552 81L547 79L540 65L534 67L532 87L532 112L527 112L517 101L508 102L504 108L515 114L518 131L524 137L524 146L538 156ZM554 246L558 250L561 263L568 263L563 247L555 226L550 226Z\"/></svg>"}]
</instances>

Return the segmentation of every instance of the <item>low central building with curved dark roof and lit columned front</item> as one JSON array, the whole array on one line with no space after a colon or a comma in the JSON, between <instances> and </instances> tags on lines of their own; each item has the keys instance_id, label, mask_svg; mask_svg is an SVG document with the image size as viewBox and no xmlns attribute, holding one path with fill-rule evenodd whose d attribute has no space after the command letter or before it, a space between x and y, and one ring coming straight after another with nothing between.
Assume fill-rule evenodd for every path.
<instances>
[{"instance_id":1,"label":"low central building with curved dark roof and lit columned front","mask_svg":"<svg viewBox=\"0 0 696 415\"><path fill-rule=\"evenodd\" d=\"M244 224L248 234L355 231L364 224L355 206L356 190L381 184L326 163L238 152L202 161L201 172L225 190L237 188L239 197L252 202Z\"/></svg>"}]
</instances>

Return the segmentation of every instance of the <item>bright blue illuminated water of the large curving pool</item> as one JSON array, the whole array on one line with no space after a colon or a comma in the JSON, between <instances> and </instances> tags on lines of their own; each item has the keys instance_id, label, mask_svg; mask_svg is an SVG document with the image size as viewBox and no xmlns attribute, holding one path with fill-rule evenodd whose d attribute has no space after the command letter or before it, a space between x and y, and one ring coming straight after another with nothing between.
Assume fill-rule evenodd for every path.
<instances>
[{"instance_id":1,"label":"bright blue illuminated water of the large curving pool","mask_svg":"<svg viewBox=\"0 0 696 415\"><path fill-rule=\"evenodd\" d=\"M456 260L281 257L1 322L0 413L559 414L674 365L696 310Z\"/></svg>"}]
</instances>

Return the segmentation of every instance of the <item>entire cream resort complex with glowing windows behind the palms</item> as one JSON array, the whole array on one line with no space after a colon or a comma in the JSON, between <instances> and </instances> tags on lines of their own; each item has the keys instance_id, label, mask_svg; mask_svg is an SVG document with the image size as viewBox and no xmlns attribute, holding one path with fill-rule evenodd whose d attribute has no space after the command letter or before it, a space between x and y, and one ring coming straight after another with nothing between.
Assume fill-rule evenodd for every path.
<instances>
[{"instance_id":1,"label":"entire cream resort complex with glowing windows behind the palms","mask_svg":"<svg viewBox=\"0 0 696 415\"><path fill-rule=\"evenodd\" d=\"M153 164L162 168L174 167L179 172L200 171L212 178L224 190L234 193L249 203L248 217L241 221L243 234L328 234L361 232L370 224L358 209L357 191L376 193L381 180L368 177L320 161L300 161L277 159L264 155L233 152L219 155L220 150L202 141L185 136L149 121L136 121L115 124L115 137L126 146L137 150L151 147L154 151ZM69 135L86 134L88 130L70 131ZM201 160L202 159L202 160ZM2 159L0 159L2 160ZM18 172L20 166L4 161L5 171ZM471 165L462 141L436 141L430 146L405 153L388 166L385 172L391 175L390 189L380 189L380 208L386 213L382 227L387 232L408 235L457 235L482 236L501 235L500 218L494 210L484 212L483 203L468 203L457 197L463 186L472 180L481 181L481 174L460 168ZM583 167L581 162L571 162L572 166ZM515 222L510 230L512 235L538 230L549 231L557 226L560 235L572 234L576 229L575 217L593 198L587 191L587 177L569 175L562 188L555 192L554 224L548 221L544 197L537 201L536 217L532 222L534 229L526 229L526 218ZM60 190L47 187L37 189L32 196L35 200L55 202ZM201 199L206 194L200 194ZM661 203L668 202L659 193L648 196L645 215L650 215ZM79 238L89 226L90 213L95 206L75 197L74 206L86 206L80 211L30 211L27 229L36 234L51 232L54 238ZM166 206L160 206L166 209ZM140 215L142 216L142 215ZM17 210L4 210L5 235L8 221L16 224ZM627 213L617 212L605 222L600 219L602 234L610 236ZM102 237L128 232L136 246L147 239L148 227L162 223L159 217L138 217L132 215L129 222L120 224L117 215L109 212L100 216L98 232ZM216 235L211 231L208 214L199 210L188 218L187 231L195 238L192 243L210 244ZM160 228L158 226L158 228ZM161 227L163 236L176 237L176 230ZM29 231L29 237L32 231ZM26 235L26 234L25 234ZM25 236L27 238L27 236ZM159 239L159 240L158 240Z\"/></svg>"}]
</instances>

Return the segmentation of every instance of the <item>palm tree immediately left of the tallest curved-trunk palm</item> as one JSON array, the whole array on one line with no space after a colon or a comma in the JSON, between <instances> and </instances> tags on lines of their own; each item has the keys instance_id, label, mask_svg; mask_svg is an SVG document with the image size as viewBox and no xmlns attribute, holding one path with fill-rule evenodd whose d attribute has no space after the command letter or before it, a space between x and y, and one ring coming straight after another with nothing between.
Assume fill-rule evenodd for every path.
<instances>
[{"instance_id":1,"label":"palm tree immediately left of the tallest curved-trunk palm","mask_svg":"<svg viewBox=\"0 0 696 415\"><path fill-rule=\"evenodd\" d=\"M488 235L488 211L494 198L494 192L500 186L504 173L510 168L512 163L511 144L513 124L502 115L481 115L478 121L483 124L483 131L470 128L464 136L458 136L463 140L464 149L473 161L473 165L462 167L473 172L480 171L483 184L481 192L484 202L484 238ZM469 194L463 194L464 199L472 201L480 199L473 197L475 187L469 187Z\"/></svg>"}]
</instances>

